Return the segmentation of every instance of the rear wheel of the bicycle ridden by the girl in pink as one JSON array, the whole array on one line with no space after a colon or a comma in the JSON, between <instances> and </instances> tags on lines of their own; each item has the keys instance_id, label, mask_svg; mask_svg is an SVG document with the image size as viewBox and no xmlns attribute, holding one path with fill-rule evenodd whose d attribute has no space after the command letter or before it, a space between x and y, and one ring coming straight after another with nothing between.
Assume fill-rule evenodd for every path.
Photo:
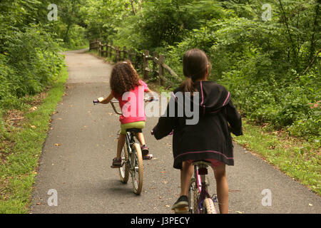
<instances>
[{"instance_id":1,"label":"rear wheel of the bicycle ridden by the girl in pink","mask_svg":"<svg viewBox=\"0 0 321 228\"><path fill-rule=\"evenodd\" d=\"M143 156L141 155L141 147L138 143L134 143L133 151L131 153L132 162L132 182L133 182L133 192L137 195L141 194L143 189Z\"/></svg>"}]
</instances>

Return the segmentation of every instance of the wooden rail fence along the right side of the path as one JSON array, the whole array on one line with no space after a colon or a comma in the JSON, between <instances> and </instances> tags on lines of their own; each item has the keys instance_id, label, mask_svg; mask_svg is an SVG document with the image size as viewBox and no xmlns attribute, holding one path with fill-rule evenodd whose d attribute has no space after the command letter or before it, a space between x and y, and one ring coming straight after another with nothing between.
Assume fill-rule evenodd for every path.
<instances>
[{"instance_id":1,"label":"wooden rail fence along the right side of the path","mask_svg":"<svg viewBox=\"0 0 321 228\"><path fill-rule=\"evenodd\" d=\"M136 70L143 73L144 80L149 80L151 76L153 76L153 78L158 78L161 86L164 85L164 82L170 86L174 86L175 83L171 81L173 79L178 82L182 81L181 78L165 64L165 57L158 55L156 52L153 52L153 55L150 56L149 51L137 52L131 48L127 49L126 46L123 48L118 46L114 47L112 41L107 41L104 44L101 41L92 41L89 44L89 51L91 50L96 50L99 56L111 58L115 62L129 59ZM149 61L151 61L151 64ZM172 77L166 78L164 70Z\"/></svg>"}]
</instances>

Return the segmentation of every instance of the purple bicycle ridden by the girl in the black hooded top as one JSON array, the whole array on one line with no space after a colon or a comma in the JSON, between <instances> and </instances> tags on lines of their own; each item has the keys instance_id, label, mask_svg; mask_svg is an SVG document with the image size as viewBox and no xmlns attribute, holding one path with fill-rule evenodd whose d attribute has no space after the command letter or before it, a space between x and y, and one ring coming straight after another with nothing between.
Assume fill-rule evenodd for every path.
<instances>
[{"instance_id":1,"label":"purple bicycle ridden by the girl in the black hooded top","mask_svg":"<svg viewBox=\"0 0 321 228\"><path fill-rule=\"evenodd\" d=\"M188 209L176 208L175 214L218 214L218 199L216 195L210 197L208 193L210 184L206 180L208 166L211 167L212 164L205 160L198 160L193 162L193 166L194 174L188 190Z\"/></svg>"}]
</instances>

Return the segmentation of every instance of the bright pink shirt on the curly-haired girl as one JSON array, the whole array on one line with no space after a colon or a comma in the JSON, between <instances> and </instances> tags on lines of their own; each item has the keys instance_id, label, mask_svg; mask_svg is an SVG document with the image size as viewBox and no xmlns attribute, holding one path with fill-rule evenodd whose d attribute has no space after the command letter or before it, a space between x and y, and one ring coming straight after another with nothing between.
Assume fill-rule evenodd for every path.
<instances>
[{"instance_id":1,"label":"bright pink shirt on the curly-haired girl","mask_svg":"<svg viewBox=\"0 0 321 228\"><path fill-rule=\"evenodd\" d=\"M121 97L113 94L119 101L119 106L123 113L119 118L121 124L146 121L144 93L148 92L148 86L141 80L139 83L141 83L141 86L136 86Z\"/></svg>"}]
</instances>

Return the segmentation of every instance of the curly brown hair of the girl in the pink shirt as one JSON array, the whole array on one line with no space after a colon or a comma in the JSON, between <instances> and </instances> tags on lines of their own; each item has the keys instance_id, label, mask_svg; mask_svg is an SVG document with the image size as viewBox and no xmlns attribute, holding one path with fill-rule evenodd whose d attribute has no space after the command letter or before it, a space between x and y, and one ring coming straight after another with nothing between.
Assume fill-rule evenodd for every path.
<instances>
[{"instance_id":1,"label":"curly brown hair of the girl in the pink shirt","mask_svg":"<svg viewBox=\"0 0 321 228\"><path fill-rule=\"evenodd\" d=\"M138 73L133 68L131 61L118 62L111 71L111 90L116 96L121 97L123 93L141 86Z\"/></svg>"}]
</instances>

